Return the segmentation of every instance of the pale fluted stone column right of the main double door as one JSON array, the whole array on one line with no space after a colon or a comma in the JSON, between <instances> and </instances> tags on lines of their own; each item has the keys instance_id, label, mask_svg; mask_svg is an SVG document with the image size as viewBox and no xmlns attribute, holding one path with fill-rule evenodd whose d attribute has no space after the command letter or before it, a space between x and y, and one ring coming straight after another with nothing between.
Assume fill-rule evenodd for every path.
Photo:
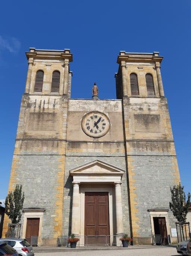
<instances>
[{"instance_id":1,"label":"pale fluted stone column right of the main double door","mask_svg":"<svg viewBox=\"0 0 191 256\"><path fill-rule=\"evenodd\" d=\"M121 183L115 183L115 204L116 204L116 235L123 234L123 211L122 211L122 197L121 197Z\"/></svg>"}]
</instances>

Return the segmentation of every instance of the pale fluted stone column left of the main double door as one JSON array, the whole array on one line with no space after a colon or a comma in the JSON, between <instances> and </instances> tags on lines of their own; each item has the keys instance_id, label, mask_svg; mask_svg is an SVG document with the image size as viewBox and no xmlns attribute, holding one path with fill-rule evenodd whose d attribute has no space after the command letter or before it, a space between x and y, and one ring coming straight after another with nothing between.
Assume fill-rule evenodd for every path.
<instances>
[{"instance_id":1,"label":"pale fluted stone column left of the main double door","mask_svg":"<svg viewBox=\"0 0 191 256\"><path fill-rule=\"evenodd\" d=\"M72 198L72 229L74 235L79 235L79 183L73 182L73 198Z\"/></svg>"}]
</instances>

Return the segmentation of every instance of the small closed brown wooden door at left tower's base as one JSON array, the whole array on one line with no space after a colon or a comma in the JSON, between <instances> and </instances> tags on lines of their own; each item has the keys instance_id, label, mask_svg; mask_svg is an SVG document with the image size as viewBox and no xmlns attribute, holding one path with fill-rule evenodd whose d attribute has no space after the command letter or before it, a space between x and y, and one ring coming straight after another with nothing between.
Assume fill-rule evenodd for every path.
<instances>
[{"instance_id":1,"label":"small closed brown wooden door at left tower's base","mask_svg":"<svg viewBox=\"0 0 191 256\"><path fill-rule=\"evenodd\" d=\"M31 243L32 236L38 236L40 218L27 218L26 240Z\"/></svg>"}]
</instances>

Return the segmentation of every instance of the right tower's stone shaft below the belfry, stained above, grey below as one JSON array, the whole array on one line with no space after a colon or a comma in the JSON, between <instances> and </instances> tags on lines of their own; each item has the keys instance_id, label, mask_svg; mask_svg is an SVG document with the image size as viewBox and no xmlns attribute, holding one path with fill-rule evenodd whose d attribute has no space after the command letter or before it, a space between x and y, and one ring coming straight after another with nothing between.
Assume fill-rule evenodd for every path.
<instances>
[{"instance_id":1,"label":"right tower's stone shaft below the belfry, stained above, grey below","mask_svg":"<svg viewBox=\"0 0 191 256\"><path fill-rule=\"evenodd\" d=\"M179 171L165 98L123 99L133 237L151 237L148 209L169 209ZM176 222L168 212L170 227Z\"/></svg>"}]
</instances>

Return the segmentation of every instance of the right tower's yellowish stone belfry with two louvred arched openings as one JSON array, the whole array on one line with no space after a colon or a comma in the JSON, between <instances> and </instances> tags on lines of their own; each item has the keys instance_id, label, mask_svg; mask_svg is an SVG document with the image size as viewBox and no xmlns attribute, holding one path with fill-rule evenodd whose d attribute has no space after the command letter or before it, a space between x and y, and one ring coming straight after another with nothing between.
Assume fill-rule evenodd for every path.
<instances>
[{"instance_id":1,"label":"right tower's yellowish stone belfry with two louvred arched openings","mask_svg":"<svg viewBox=\"0 0 191 256\"><path fill-rule=\"evenodd\" d=\"M123 96L164 97L160 73L162 59L163 57L159 56L159 52L120 51L117 60L119 70L115 74L117 99L122 99ZM153 87L153 93L151 93L151 87Z\"/></svg>"}]
</instances>

